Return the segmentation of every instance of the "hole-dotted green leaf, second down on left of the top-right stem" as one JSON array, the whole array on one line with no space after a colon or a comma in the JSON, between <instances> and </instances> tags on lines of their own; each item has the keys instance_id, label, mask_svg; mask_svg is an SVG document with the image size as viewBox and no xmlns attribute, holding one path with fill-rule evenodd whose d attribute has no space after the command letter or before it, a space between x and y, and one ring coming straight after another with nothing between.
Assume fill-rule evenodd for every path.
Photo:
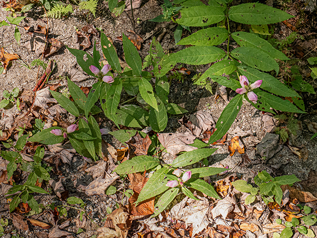
<instances>
[{"instance_id":1,"label":"hole-dotted green leaf, second down on left of the top-right stem","mask_svg":"<svg viewBox=\"0 0 317 238\"><path fill-rule=\"evenodd\" d=\"M228 38L228 31L222 27L209 27L182 39L177 45L216 46Z\"/></svg>"}]
</instances>

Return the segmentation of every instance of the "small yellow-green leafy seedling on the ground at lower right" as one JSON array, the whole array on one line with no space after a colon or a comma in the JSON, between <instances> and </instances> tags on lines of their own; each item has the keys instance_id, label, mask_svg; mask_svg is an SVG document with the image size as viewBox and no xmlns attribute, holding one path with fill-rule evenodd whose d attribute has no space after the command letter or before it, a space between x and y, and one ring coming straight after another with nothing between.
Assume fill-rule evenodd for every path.
<instances>
[{"instance_id":1,"label":"small yellow-green leafy seedling on the ground at lower right","mask_svg":"<svg viewBox=\"0 0 317 238\"><path fill-rule=\"evenodd\" d=\"M247 196L245 203L250 204L255 201L257 195L261 195L265 204L274 202L280 205L283 197L281 185L292 185L300 181L295 175L285 175L273 178L265 170L260 172L255 178L254 183L259 187L255 188L244 180L232 182L236 190L251 193Z\"/></svg>"}]
</instances>

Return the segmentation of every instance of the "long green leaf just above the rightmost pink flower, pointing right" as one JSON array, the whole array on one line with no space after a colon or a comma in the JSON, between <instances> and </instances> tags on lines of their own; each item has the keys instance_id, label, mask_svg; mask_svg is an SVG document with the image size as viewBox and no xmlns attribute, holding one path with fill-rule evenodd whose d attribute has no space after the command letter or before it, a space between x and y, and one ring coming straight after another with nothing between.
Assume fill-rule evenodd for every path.
<instances>
[{"instance_id":1,"label":"long green leaf just above the rightmost pink flower, pointing right","mask_svg":"<svg viewBox=\"0 0 317 238\"><path fill-rule=\"evenodd\" d=\"M261 88L280 96L298 96L299 95L286 85L281 83L279 80L271 76L270 74L261 72L257 69L248 66L238 66L238 70L241 75L245 75L250 83L254 83L257 80L263 80Z\"/></svg>"}]
</instances>

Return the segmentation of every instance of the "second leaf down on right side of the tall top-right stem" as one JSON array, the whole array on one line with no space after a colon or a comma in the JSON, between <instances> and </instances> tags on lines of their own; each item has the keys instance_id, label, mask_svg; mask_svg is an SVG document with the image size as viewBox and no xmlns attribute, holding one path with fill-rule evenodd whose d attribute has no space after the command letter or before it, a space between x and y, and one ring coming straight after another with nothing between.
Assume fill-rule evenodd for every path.
<instances>
[{"instance_id":1,"label":"second leaf down on right side of the tall top-right stem","mask_svg":"<svg viewBox=\"0 0 317 238\"><path fill-rule=\"evenodd\" d=\"M241 47L260 48L272 58L281 60L289 59L283 52L275 49L271 44L255 34L239 31L232 33L231 36Z\"/></svg>"}]
</instances>

